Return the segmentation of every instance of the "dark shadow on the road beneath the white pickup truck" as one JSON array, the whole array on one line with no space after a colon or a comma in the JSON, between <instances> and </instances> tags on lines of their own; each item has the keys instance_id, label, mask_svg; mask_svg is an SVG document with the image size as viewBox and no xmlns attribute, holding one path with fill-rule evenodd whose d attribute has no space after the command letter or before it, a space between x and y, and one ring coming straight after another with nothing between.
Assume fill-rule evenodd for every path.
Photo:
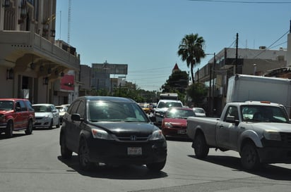
<instances>
[{"instance_id":1,"label":"dark shadow on the road beneath the white pickup truck","mask_svg":"<svg viewBox=\"0 0 291 192\"><path fill-rule=\"evenodd\" d=\"M188 155L188 156L190 158L196 158L195 155ZM279 166L276 166L275 164L262 165L261 167L258 167L258 169L254 171L247 171L242 168L240 158L237 158L237 157L208 155L204 161L211 162L216 165L230 167L233 169L233 171L249 172L251 174L256 174L260 177L265 177L268 179L291 181L291 169L287 169L285 167L279 167Z\"/></svg>"}]
</instances>

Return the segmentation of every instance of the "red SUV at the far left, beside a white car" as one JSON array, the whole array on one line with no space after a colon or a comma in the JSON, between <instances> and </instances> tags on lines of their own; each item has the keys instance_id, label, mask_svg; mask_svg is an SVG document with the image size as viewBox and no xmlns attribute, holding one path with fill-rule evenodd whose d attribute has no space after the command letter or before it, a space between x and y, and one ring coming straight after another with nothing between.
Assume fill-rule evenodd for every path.
<instances>
[{"instance_id":1,"label":"red SUV at the far left, beside a white car","mask_svg":"<svg viewBox=\"0 0 291 192\"><path fill-rule=\"evenodd\" d=\"M13 131L25 130L32 134L35 110L28 99L0 98L0 134L12 137Z\"/></svg>"}]
</instances>

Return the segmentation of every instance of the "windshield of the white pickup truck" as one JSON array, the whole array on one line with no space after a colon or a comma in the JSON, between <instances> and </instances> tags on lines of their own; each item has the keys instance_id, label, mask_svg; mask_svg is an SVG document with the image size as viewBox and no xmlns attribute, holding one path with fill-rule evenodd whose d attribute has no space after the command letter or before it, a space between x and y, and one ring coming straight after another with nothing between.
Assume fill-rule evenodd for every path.
<instances>
[{"instance_id":1,"label":"windshield of the white pickup truck","mask_svg":"<svg viewBox=\"0 0 291 192\"><path fill-rule=\"evenodd\" d=\"M242 119L245 122L289 122L283 108L262 105L242 105Z\"/></svg>"}]
</instances>

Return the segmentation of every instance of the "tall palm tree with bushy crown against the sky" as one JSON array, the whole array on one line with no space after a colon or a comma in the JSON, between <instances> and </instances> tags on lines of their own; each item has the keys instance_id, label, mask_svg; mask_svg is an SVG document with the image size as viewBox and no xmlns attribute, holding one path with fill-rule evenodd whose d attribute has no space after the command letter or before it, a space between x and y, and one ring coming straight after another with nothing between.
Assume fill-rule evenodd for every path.
<instances>
[{"instance_id":1,"label":"tall palm tree with bushy crown against the sky","mask_svg":"<svg viewBox=\"0 0 291 192\"><path fill-rule=\"evenodd\" d=\"M181 56L182 61L186 60L187 67L191 68L191 78L194 84L195 66L201 62L201 58L205 58L204 53L205 41L203 37L198 37L198 34L186 34L179 44L178 56Z\"/></svg>"}]
</instances>

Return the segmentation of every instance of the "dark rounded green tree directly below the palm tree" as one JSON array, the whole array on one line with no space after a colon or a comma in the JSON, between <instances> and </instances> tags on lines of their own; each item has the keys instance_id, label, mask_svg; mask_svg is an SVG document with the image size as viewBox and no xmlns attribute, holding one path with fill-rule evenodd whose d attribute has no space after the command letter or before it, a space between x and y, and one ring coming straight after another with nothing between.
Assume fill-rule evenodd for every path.
<instances>
[{"instance_id":1,"label":"dark rounded green tree directly below the palm tree","mask_svg":"<svg viewBox=\"0 0 291 192\"><path fill-rule=\"evenodd\" d=\"M187 89L187 95L191 98L191 101L199 107L203 105L203 101L207 94L208 89L206 89L203 83L191 84Z\"/></svg>"}]
</instances>

